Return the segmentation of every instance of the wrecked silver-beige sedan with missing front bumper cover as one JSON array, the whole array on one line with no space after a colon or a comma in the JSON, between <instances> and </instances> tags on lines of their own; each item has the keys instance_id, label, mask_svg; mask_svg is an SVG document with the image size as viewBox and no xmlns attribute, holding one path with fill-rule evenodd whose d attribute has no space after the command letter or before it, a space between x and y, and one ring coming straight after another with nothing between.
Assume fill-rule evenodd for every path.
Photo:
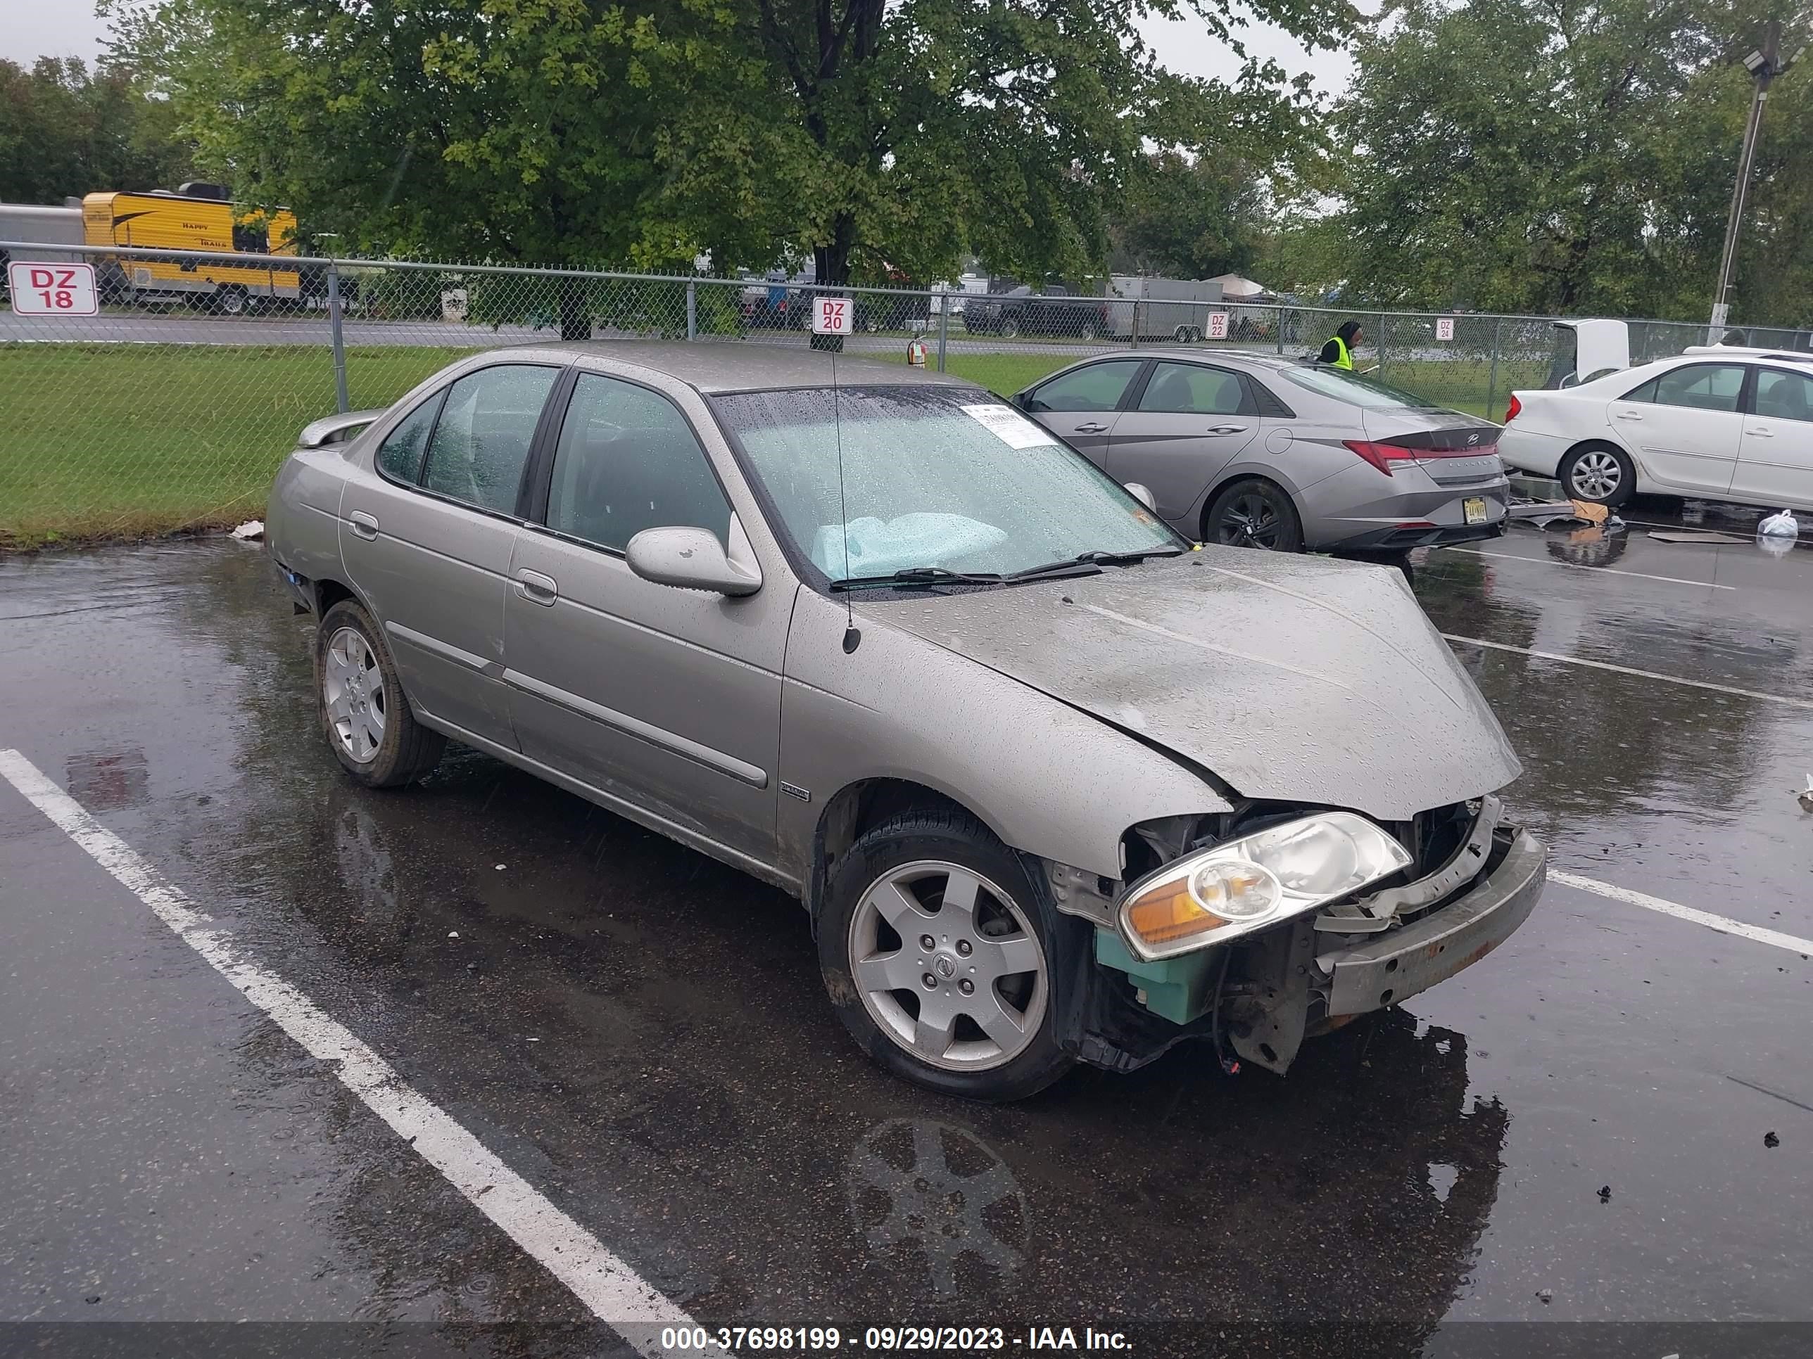
<instances>
[{"instance_id":1,"label":"wrecked silver-beige sedan with missing front bumper cover","mask_svg":"<svg viewBox=\"0 0 1813 1359\"><path fill-rule=\"evenodd\" d=\"M937 373L475 355L305 429L267 533L354 779L453 737L787 888L850 1033L934 1089L1184 1038L1282 1073L1543 886L1400 573L1197 547Z\"/></svg>"}]
</instances>

